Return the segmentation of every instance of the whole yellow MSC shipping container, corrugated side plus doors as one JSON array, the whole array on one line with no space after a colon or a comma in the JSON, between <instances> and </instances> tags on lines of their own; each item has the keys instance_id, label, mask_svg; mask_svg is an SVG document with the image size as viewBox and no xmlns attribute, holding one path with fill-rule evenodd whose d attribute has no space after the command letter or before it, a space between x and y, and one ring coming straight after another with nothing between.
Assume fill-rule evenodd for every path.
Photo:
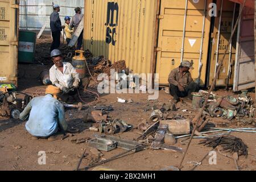
<instances>
[{"instance_id":1,"label":"whole yellow MSC shipping container, corrugated side plus doors","mask_svg":"<svg viewBox=\"0 0 256 182\"><path fill-rule=\"evenodd\" d=\"M125 60L134 73L158 73L160 85L168 85L172 69L188 60L201 86L212 84L229 48L216 86L231 86L237 31L228 42L239 9L228 0L85 0L84 48L112 62Z\"/></svg>"}]
</instances>

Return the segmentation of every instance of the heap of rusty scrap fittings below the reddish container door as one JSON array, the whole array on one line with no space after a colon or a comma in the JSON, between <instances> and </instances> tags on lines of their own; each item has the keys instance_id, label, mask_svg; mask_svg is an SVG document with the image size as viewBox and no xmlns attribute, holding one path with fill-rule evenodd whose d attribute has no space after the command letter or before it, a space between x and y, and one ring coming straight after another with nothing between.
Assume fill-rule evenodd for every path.
<instances>
[{"instance_id":1,"label":"heap of rusty scrap fittings below the reddish container door","mask_svg":"<svg viewBox=\"0 0 256 182\"><path fill-rule=\"evenodd\" d=\"M207 94L208 93L203 90L200 90L199 93L193 93L194 107L196 107L195 105L199 105L200 108L203 107L205 95ZM198 98L201 99L199 100ZM212 93L207 106L205 107L205 113L211 117L220 117L222 119L227 119L228 121L232 121L234 118L237 120L240 120L241 118L253 118L255 111L253 104L253 99L250 96L247 96L246 91L242 92L238 97L220 97Z\"/></svg>"}]
</instances>

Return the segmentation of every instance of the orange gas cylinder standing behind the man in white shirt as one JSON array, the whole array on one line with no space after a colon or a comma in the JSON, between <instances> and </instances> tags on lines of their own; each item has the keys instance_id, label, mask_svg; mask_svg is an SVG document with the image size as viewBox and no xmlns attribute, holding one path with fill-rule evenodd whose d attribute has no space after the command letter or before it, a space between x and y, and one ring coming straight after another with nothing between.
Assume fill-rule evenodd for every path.
<instances>
[{"instance_id":1,"label":"orange gas cylinder standing behind the man in white shirt","mask_svg":"<svg viewBox=\"0 0 256 182\"><path fill-rule=\"evenodd\" d=\"M77 50L75 51L75 57L72 59L72 65L76 69L76 72L79 73L79 78L82 79L85 77L86 68L86 58L84 57L84 51Z\"/></svg>"}]
</instances>

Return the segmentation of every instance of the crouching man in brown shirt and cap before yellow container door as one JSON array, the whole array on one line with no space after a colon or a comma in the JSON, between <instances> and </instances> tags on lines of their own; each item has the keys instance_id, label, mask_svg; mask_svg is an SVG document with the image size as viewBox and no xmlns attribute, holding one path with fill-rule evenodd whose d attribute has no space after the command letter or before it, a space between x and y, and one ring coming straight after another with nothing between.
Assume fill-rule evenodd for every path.
<instances>
[{"instance_id":1,"label":"crouching man in brown shirt and cap before yellow container door","mask_svg":"<svg viewBox=\"0 0 256 182\"><path fill-rule=\"evenodd\" d=\"M191 93L196 92L198 85L193 82L189 69L194 69L187 60L182 61L179 68L171 71L168 82L170 83L170 94L174 97L173 102L177 104L180 98L187 97L192 100Z\"/></svg>"}]
</instances>

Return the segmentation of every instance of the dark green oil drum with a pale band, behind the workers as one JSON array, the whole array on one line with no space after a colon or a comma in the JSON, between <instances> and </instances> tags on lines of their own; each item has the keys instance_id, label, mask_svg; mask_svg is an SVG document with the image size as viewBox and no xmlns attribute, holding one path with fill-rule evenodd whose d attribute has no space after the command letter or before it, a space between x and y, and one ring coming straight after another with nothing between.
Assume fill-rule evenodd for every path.
<instances>
[{"instance_id":1,"label":"dark green oil drum with a pale band, behind the workers","mask_svg":"<svg viewBox=\"0 0 256 182\"><path fill-rule=\"evenodd\" d=\"M36 33L19 31L18 61L19 63L34 63Z\"/></svg>"}]
</instances>

